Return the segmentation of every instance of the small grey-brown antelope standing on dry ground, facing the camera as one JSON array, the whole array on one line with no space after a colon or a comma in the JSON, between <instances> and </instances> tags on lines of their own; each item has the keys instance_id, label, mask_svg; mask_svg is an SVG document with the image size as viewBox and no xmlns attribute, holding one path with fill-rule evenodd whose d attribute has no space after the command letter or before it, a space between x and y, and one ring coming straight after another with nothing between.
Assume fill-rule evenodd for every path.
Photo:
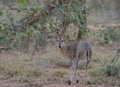
<instances>
[{"instance_id":1,"label":"small grey-brown antelope standing on dry ground, facing the camera","mask_svg":"<svg viewBox=\"0 0 120 87\"><path fill-rule=\"evenodd\" d=\"M69 80L68 84L70 85L73 80L73 76L76 78L76 82L78 83L78 62L81 59L86 59L86 77L87 77L87 70L88 65L91 60L92 56L92 46L90 42L87 41L80 41L70 44L64 44L64 34L57 35L56 40L58 42L58 47L60 48L60 51L63 55L63 57L66 57L70 60L70 73L69 73Z\"/></svg>"}]
</instances>

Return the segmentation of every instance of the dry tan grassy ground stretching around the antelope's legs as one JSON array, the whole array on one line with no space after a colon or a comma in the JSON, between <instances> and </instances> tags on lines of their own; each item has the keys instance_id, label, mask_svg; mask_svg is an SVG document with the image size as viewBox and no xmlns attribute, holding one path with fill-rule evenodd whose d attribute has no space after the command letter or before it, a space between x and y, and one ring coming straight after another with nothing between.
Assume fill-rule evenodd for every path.
<instances>
[{"instance_id":1,"label":"dry tan grassy ground stretching around the antelope's legs","mask_svg":"<svg viewBox=\"0 0 120 87\"><path fill-rule=\"evenodd\" d=\"M88 84L85 82L85 62L80 61L80 82L67 85L69 61L62 57L59 49L54 45L47 46L44 52L36 53L32 59L29 54L19 52L1 53L0 87L119 87L119 78L108 77L104 71L113 58L115 43L100 45L102 42L94 39L95 34L90 36L93 56Z\"/></svg>"}]
</instances>

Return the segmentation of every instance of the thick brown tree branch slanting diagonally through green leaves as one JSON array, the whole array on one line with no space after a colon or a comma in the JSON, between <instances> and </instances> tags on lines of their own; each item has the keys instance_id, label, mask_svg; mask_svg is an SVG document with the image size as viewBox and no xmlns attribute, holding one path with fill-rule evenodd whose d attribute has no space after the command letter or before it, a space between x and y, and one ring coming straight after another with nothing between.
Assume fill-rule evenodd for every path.
<instances>
[{"instance_id":1,"label":"thick brown tree branch slanting diagonally through green leaves","mask_svg":"<svg viewBox=\"0 0 120 87\"><path fill-rule=\"evenodd\" d=\"M71 0L58 0L58 1L61 5L71 2ZM25 19L21 22L21 29L19 31L23 31L23 29L27 25L32 25L32 24L38 22L40 18L44 18L44 17L48 16L49 14L51 14L55 8L54 7L55 3L56 3L56 0L53 0L51 3L45 3L45 8L40 9L39 15L37 15L37 12L33 12L32 15L30 15L29 17L27 17L27 19ZM11 8L11 9L13 9L13 8ZM24 8L24 10L26 10L26 9ZM32 9L32 10L35 10L35 9Z\"/></svg>"}]
</instances>

